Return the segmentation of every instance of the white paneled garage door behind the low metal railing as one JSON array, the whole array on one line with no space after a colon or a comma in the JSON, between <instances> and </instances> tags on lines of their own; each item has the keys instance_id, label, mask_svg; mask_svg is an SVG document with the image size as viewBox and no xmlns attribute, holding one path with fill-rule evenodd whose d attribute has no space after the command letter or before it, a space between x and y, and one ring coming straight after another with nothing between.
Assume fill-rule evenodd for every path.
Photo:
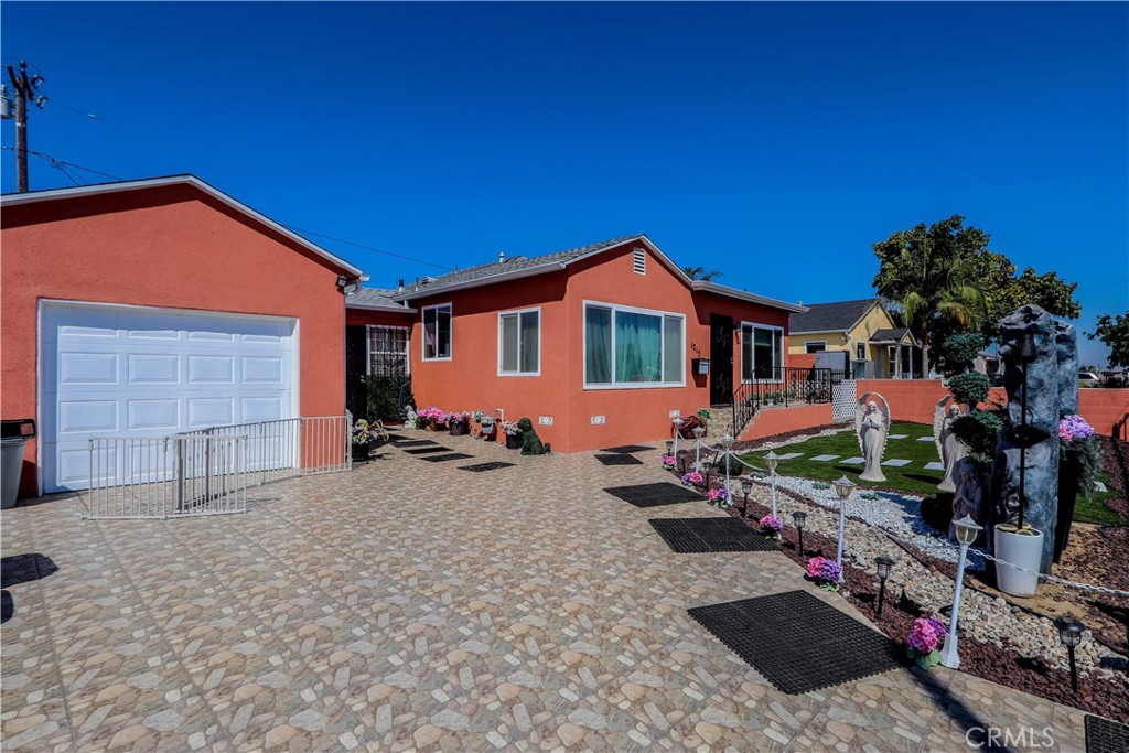
<instances>
[{"instance_id":1,"label":"white paneled garage door behind the low metal railing","mask_svg":"<svg viewBox=\"0 0 1129 753\"><path fill-rule=\"evenodd\" d=\"M44 491L87 488L89 437L296 415L296 341L292 318L44 304Z\"/></svg>"}]
</instances>

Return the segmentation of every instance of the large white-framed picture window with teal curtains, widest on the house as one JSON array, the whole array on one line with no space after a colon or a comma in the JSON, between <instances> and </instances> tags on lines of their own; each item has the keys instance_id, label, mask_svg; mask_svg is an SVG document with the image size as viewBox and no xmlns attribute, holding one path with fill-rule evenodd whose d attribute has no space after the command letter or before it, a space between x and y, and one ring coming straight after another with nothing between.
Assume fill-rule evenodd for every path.
<instances>
[{"instance_id":1,"label":"large white-framed picture window with teal curtains, widest on the house","mask_svg":"<svg viewBox=\"0 0 1129 753\"><path fill-rule=\"evenodd\" d=\"M682 314L586 300L584 387L683 387L685 343Z\"/></svg>"}]
</instances>

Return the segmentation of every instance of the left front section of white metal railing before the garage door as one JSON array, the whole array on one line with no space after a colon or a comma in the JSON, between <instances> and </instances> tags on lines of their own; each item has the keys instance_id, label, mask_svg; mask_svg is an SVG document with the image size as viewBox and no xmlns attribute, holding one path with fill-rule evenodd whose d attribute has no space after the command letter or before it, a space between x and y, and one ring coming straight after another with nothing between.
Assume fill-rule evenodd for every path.
<instances>
[{"instance_id":1,"label":"left front section of white metal railing before the garage door","mask_svg":"<svg viewBox=\"0 0 1129 753\"><path fill-rule=\"evenodd\" d=\"M89 440L89 518L243 513L246 437L177 435Z\"/></svg>"}]
</instances>

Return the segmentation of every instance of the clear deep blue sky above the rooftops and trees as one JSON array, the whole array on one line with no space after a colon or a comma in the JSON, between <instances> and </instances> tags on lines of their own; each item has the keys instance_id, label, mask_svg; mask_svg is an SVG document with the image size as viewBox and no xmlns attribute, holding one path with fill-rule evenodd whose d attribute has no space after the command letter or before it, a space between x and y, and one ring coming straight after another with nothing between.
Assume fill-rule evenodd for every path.
<instances>
[{"instance_id":1,"label":"clear deep blue sky above the rooftops and trees","mask_svg":"<svg viewBox=\"0 0 1129 753\"><path fill-rule=\"evenodd\" d=\"M5 62L45 79L30 149L193 173L432 264L309 235L375 284L644 231L727 284L865 298L870 244L961 213L1079 282L1082 330L1129 309L1126 3L9 0L0 21ZM35 157L30 183L73 185Z\"/></svg>"}]
</instances>

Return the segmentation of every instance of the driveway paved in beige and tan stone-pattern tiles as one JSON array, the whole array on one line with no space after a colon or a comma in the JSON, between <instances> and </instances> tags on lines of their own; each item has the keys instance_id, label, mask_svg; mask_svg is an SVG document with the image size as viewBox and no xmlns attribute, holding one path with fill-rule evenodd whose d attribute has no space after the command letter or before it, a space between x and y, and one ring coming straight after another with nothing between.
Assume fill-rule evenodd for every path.
<instances>
[{"instance_id":1,"label":"driveway paved in beige and tan stone-pattern tiles","mask_svg":"<svg viewBox=\"0 0 1129 753\"><path fill-rule=\"evenodd\" d=\"M716 510L601 491L668 480L658 453L604 466L440 438L475 458L388 447L237 516L6 510L3 555L59 569L8 588L3 748L956 751L973 726L1084 746L1082 712L943 668L785 695L685 610L808 588L802 571L675 554L647 518ZM457 470L491 459L516 465Z\"/></svg>"}]
</instances>

